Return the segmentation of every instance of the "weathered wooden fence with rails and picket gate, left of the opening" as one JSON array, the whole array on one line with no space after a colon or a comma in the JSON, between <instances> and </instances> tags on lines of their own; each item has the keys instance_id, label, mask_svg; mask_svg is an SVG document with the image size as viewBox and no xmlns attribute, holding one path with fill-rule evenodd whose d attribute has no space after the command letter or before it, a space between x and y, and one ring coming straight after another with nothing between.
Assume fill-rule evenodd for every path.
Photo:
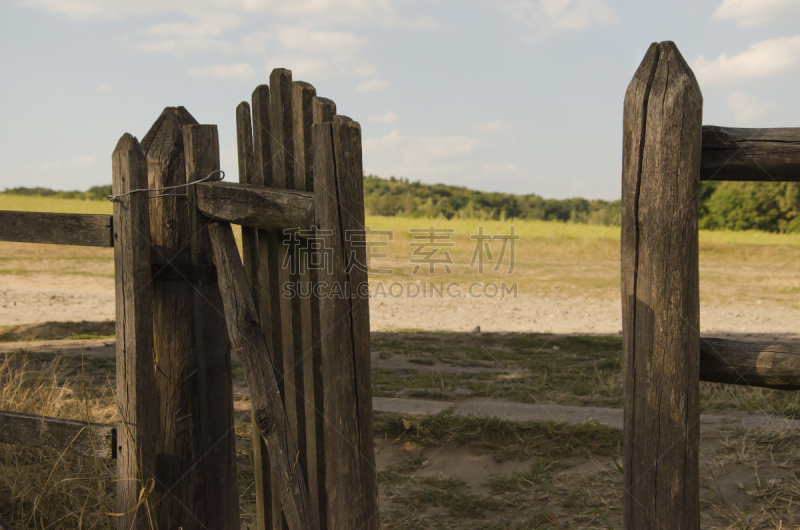
<instances>
[{"instance_id":1,"label":"weathered wooden fence with rails and picket gate, left of the opening","mask_svg":"<svg viewBox=\"0 0 800 530\"><path fill-rule=\"evenodd\" d=\"M239 528L233 351L256 528L378 528L367 277L348 266L366 263L361 128L284 69L236 122L239 183L174 188L219 174L216 126L174 107L117 144L113 216L0 212L3 241L114 247L119 407L116 428L0 412L0 442L116 458L119 528ZM330 265L304 267L317 248Z\"/></svg>"}]
</instances>

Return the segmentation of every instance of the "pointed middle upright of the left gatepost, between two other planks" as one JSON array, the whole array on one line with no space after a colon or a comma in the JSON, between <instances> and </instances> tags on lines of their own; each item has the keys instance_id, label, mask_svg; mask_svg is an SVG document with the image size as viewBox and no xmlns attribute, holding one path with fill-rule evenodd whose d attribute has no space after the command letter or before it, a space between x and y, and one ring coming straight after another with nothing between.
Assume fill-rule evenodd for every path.
<instances>
[{"instance_id":1,"label":"pointed middle upright of the left gatepost, between two other planks","mask_svg":"<svg viewBox=\"0 0 800 530\"><path fill-rule=\"evenodd\" d=\"M197 121L182 107L164 109L142 141L151 188L186 182L184 125ZM153 198L150 237L154 263L191 264L186 188ZM184 269L185 270L185 269ZM160 427L156 431L159 528L202 528L206 518L201 458L199 378L195 355L194 288L189 282L153 280L153 358Z\"/></svg>"}]
</instances>

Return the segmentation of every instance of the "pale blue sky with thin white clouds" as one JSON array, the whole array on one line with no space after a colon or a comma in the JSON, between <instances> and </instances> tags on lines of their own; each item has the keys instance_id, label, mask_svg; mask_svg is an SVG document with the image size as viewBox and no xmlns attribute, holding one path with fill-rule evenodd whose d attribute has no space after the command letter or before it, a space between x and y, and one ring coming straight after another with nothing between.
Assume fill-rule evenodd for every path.
<instances>
[{"instance_id":1,"label":"pale blue sky with thin white clouds","mask_svg":"<svg viewBox=\"0 0 800 530\"><path fill-rule=\"evenodd\" d=\"M617 199L625 89L672 40L703 123L800 126L800 0L4 0L0 189L87 189L167 106L219 127L273 68L361 123L381 177Z\"/></svg>"}]
</instances>

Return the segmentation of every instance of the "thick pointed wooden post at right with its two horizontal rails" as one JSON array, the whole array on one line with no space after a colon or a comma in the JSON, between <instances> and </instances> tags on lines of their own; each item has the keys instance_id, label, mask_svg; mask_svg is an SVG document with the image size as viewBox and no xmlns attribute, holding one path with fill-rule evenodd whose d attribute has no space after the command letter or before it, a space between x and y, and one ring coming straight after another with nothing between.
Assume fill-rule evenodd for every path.
<instances>
[{"instance_id":1,"label":"thick pointed wooden post at right with its two horizontal rails","mask_svg":"<svg viewBox=\"0 0 800 530\"><path fill-rule=\"evenodd\" d=\"M702 126L672 42L625 95L622 168L624 528L700 528L700 381L800 389L800 349L700 337L701 180L800 181L800 129Z\"/></svg>"}]
</instances>

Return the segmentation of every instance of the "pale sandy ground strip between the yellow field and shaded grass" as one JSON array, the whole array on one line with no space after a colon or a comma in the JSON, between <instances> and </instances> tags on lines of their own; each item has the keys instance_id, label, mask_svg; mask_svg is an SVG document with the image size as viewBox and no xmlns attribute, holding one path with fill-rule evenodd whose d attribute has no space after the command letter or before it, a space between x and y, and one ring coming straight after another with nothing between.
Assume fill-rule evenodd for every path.
<instances>
[{"instance_id":1,"label":"pale sandy ground strip between the yellow field and shaded grass","mask_svg":"<svg viewBox=\"0 0 800 530\"><path fill-rule=\"evenodd\" d=\"M619 333L619 300L548 298L374 298L373 331L422 329L485 332ZM0 325L114 319L111 278L51 274L0 275ZM753 338L797 338L800 310L752 304L701 307L701 332Z\"/></svg>"}]
</instances>

